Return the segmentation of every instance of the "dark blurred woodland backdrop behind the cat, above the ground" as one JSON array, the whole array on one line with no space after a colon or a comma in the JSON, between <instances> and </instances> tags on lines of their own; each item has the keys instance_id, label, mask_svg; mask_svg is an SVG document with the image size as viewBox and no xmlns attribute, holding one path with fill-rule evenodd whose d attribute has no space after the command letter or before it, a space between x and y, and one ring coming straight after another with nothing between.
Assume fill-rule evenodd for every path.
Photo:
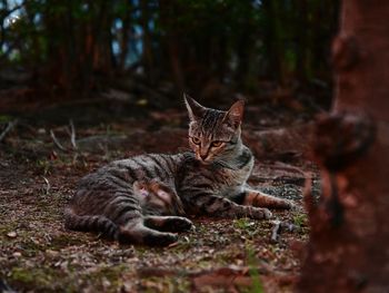
<instances>
[{"instance_id":1,"label":"dark blurred woodland backdrop behind the cat, above the ground","mask_svg":"<svg viewBox=\"0 0 389 293\"><path fill-rule=\"evenodd\" d=\"M182 107L183 91L215 107L241 94L275 110L328 109L338 6L2 0L0 110L101 97L129 107Z\"/></svg>"}]
</instances>

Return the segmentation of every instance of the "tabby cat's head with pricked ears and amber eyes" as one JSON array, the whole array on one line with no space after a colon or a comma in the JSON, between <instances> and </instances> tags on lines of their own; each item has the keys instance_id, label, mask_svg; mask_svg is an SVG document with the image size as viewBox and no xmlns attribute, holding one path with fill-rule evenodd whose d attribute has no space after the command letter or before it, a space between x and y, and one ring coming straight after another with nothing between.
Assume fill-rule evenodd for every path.
<instances>
[{"instance_id":1,"label":"tabby cat's head with pricked ears and amber eyes","mask_svg":"<svg viewBox=\"0 0 389 293\"><path fill-rule=\"evenodd\" d=\"M201 106L184 95L189 114L189 145L205 165L228 162L241 146L241 121L245 101L236 101L228 111Z\"/></svg>"}]
</instances>

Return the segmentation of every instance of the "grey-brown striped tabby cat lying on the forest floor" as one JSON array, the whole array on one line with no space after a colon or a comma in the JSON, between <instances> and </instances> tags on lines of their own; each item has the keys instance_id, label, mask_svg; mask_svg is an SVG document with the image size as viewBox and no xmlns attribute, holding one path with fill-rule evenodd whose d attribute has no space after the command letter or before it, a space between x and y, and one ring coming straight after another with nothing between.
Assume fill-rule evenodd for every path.
<instances>
[{"instance_id":1,"label":"grey-brown striped tabby cat lying on the forest floor","mask_svg":"<svg viewBox=\"0 0 389 293\"><path fill-rule=\"evenodd\" d=\"M68 228L94 231L126 243L168 245L177 240L177 235L169 232L191 227L189 219L179 216L182 215L180 205L186 214L257 219L271 216L265 207L291 207L288 201L247 185L253 156L241 140L242 100L228 111L206 108L188 96L184 101L192 152L136 156L112 162L87 175L66 209ZM142 180L152 184L149 178L159 183L159 188L150 185L146 188L148 193L153 191L157 196L158 189L163 189L171 194L169 198L174 199L178 194L181 201L168 209L160 202L159 215L149 215L140 197L142 188L138 186ZM156 206L151 209L156 213Z\"/></svg>"}]
</instances>

